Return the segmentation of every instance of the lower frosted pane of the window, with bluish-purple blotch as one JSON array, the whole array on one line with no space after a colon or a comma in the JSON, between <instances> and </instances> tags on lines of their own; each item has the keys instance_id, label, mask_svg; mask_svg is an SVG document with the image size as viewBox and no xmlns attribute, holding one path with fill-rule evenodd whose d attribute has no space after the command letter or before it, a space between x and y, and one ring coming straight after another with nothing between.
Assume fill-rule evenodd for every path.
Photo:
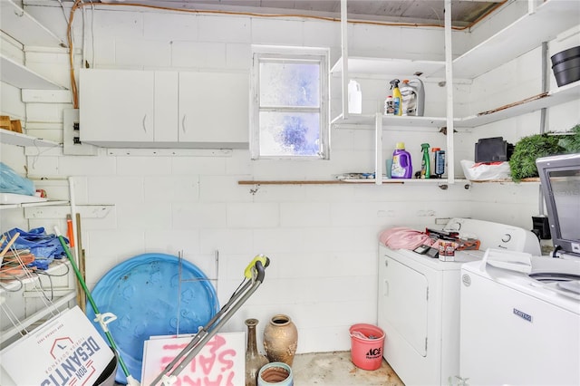
<instances>
[{"instance_id":1,"label":"lower frosted pane of the window, with bluish-purple blotch","mask_svg":"<svg viewBox=\"0 0 580 386\"><path fill-rule=\"evenodd\" d=\"M262 156L318 156L318 112L260 112Z\"/></svg>"}]
</instances>

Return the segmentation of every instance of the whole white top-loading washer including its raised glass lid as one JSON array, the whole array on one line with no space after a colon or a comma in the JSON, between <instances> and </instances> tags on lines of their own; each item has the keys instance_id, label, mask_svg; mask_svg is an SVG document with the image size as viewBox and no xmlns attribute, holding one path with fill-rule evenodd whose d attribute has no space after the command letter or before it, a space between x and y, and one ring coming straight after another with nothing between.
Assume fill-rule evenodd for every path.
<instances>
[{"instance_id":1,"label":"whole white top-loading washer including its raised glass lid","mask_svg":"<svg viewBox=\"0 0 580 386\"><path fill-rule=\"evenodd\" d=\"M490 250L461 269L460 376L580 385L580 154L536 160L555 251Z\"/></svg>"}]
</instances>

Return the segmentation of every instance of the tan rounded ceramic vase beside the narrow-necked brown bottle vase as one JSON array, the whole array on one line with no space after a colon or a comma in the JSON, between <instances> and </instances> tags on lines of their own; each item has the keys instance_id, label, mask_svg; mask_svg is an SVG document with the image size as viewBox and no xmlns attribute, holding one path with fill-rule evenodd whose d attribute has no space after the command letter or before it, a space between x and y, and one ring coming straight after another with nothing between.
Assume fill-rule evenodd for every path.
<instances>
[{"instance_id":1,"label":"tan rounded ceramic vase beside the narrow-necked brown bottle vase","mask_svg":"<svg viewBox=\"0 0 580 386\"><path fill-rule=\"evenodd\" d=\"M264 349L268 360L292 366L297 347L298 331L290 316L285 314L272 316L264 329Z\"/></svg>"}]
</instances>

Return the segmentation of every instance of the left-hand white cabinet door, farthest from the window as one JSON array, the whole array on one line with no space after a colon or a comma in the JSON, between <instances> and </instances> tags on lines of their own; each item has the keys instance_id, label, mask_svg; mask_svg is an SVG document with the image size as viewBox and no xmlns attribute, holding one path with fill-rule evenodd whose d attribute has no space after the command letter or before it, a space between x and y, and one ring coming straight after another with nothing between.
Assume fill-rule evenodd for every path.
<instances>
[{"instance_id":1,"label":"left-hand white cabinet door, farthest from the window","mask_svg":"<svg viewBox=\"0 0 580 386\"><path fill-rule=\"evenodd\" d=\"M153 140L154 72L82 70L79 76L83 142Z\"/></svg>"}]
</instances>

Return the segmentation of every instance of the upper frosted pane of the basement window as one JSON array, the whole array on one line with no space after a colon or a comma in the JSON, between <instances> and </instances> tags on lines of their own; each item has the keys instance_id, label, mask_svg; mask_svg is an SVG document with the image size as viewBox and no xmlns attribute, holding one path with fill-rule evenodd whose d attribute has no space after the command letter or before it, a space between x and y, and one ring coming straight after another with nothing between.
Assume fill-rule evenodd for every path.
<instances>
[{"instance_id":1,"label":"upper frosted pane of the basement window","mask_svg":"<svg viewBox=\"0 0 580 386\"><path fill-rule=\"evenodd\" d=\"M320 105L320 64L260 63L260 106Z\"/></svg>"}]
</instances>

